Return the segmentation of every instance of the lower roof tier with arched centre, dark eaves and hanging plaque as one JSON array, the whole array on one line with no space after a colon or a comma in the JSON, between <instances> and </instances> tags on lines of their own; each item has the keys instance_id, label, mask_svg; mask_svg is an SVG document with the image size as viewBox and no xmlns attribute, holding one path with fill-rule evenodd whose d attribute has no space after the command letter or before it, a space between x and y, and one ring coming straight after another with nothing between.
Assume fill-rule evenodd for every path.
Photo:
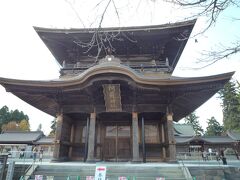
<instances>
[{"instance_id":1,"label":"lower roof tier with arched centre, dark eaves and hanging plaque","mask_svg":"<svg viewBox=\"0 0 240 180\"><path fill-rule=\"evenodd\" d=\"M146 77L123 65L94 66L79 76L51 81L0 78L0 84L34 107L56 116L63 113L160 112L171 107L174 121L187 116L233 75Z\"/></svg>"}]
</instances>

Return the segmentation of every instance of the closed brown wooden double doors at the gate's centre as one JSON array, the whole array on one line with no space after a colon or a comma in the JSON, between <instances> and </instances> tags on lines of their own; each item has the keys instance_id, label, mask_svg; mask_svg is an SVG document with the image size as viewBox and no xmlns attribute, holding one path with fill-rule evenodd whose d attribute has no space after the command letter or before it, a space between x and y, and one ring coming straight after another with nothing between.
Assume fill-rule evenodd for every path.
<instances>
[{"instance_id":1,"label":"closed brown wooden double doors at the gate's centre","mask_svg":"<svg viewBox=\"0 0 240 180\"><path fill-rule=\"evenodd\" d=\"M131 157L131 127L120 123L105 125L103 159L129 161Z\"/></svg>"}]
</instances>

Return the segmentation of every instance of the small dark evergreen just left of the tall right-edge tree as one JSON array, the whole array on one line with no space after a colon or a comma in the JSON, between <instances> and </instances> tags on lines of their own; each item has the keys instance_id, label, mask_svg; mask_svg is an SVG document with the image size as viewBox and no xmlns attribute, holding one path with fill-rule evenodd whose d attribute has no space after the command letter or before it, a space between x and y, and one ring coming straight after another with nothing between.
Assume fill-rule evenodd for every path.
<instances>
[{"instance_id":1,"label":"small dark evergreen just left of the tall right-edge tree","mask_svg":"<svg viewBox=\"0 0 240 180\"><path fill-rule=\"evenodd\" d=\"M223 126L216 120L215 117L207 119L207 131L205 135L207 136L220 136L223 133Z\"/></svg>"}]
</instances>

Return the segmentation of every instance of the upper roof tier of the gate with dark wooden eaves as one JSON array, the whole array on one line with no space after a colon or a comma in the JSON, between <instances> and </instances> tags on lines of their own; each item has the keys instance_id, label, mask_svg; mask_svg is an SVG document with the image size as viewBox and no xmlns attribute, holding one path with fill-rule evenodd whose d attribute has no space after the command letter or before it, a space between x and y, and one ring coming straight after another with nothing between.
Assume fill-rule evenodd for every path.
<instances>
[{"instance_id":1,"label":"upper roof tier of the gate with dark wooden eaves","mask_svg":"<svg viewBox=\"0 0 240 180\"><path fill-rule=\"evenodd\" d=\"M172 72L195 22L101 29L34 28L60 65L90 65L113 55L123 63L167 60Z\"/></svg>"}]
</instances>

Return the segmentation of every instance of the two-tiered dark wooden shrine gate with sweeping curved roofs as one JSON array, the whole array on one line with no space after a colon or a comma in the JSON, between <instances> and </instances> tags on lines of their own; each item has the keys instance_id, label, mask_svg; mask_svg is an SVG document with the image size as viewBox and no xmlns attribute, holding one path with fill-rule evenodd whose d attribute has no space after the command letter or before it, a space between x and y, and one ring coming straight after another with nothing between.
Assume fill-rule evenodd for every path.
<instances>
[{"instance_id":1,"label":"two-tiered dark wooden shrine gate with sweeping curved roofs","mask_svg":"<svg viewBox=\"0 0 240 180\"><path fill-rule=\"evenodd\" d=\"M195 21L35 27L61 65L59 79L0 78L0 84L56 117L53 161L176 161L173 121L196 110L233 75L172 76Z\"/></svg>"}]
</instances>

